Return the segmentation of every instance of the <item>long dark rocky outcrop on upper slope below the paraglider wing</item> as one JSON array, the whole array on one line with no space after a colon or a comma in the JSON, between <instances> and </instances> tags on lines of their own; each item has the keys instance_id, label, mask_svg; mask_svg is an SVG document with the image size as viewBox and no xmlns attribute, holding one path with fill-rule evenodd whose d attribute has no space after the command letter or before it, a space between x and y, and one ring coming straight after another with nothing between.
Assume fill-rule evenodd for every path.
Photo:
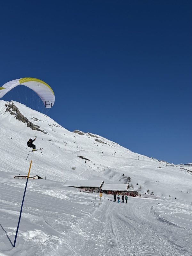
<instances>
[{"instance_id":1,"label":"long dark rocky outcrop on upper slope below the paraglider wing","mask_svg":"<svg viewBox=\"0 0 192 256\"><path fill-rule=\"evenodd\" d=\"M33 124L32 122L30 122L25 116L23 116L23 114L19 111L19 108L17 108L15 106L15 104L10 101L9 104L5 104L6 110L5 112L10 112L11 115L15 116L15 118L25 124L27 124L27 127L30 127L31 130L36 130L39 132L43 132L43 133L47 133L44 132L43 130L41 130L40 126Z\"/></svg>"}]
</instances>

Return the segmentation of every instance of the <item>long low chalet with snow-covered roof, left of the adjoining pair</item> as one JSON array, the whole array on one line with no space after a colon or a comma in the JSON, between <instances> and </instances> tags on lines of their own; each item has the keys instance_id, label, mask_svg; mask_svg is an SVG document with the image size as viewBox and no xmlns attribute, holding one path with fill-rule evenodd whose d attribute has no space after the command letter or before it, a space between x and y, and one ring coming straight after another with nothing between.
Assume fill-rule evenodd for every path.
<instances>
[{"instance_id":1,"label":"long low chalet with snow-covered roof, left of the adjoining pair","mask_svg":"<svg viewBox=\"0 0 192 256\"><path fill-rule=\"evenodd\" d=\"M67 180L63 186L97 191L101 189L103 183L103 180Z\"/></svg>"}]
</instances>

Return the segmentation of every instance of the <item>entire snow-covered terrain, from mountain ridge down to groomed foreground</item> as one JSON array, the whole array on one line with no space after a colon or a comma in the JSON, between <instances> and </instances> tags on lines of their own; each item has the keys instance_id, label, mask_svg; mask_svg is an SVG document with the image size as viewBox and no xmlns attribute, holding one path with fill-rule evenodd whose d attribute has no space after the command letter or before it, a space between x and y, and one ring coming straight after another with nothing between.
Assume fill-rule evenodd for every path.
<instances>
[{"instance_id":1,"label":"entire snow-covered terrain, from mountain ridge down to groomed foreground","mask_svg":"<svg viewBox=\"0 0 192 256\"><path fill-rule=\"evenodd\" d=\"M70 132L14 101L0 101L0 134L0 256L191 255L190 165L143 156L90 132ZM35 136L36 148L43 150L29 153L27 141ZM17 244L12 248L26 183L13 176L26 175L30 160L31 176L46 176L46 180L29 181ZM64 188L62 184L70 179L128 182L160 199L129 198L125 208L126 204L113 204L113 197L104 195L99 205L97 194ZM182 237L179 249L170 242L178 237Z\"/></svg>"}]
</instances>

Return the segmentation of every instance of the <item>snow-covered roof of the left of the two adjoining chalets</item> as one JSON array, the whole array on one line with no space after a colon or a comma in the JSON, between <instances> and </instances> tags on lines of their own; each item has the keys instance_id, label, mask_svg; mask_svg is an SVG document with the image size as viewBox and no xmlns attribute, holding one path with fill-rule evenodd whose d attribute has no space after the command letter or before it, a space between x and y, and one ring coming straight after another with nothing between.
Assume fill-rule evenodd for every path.
<instances>
[{"instance_id":1,"label":"snow-covered roof of the left of the two adjoining chalets","mask_svg":"<svg viewBox=\"0 0 192 256\"><path fill-rule=\"evenodd\" d=\"M80 187L100 188L103 182L104 182L103 180L66 180L63 186L77 187L77 188L80 188Z\"/></svg>"}]
</instances>

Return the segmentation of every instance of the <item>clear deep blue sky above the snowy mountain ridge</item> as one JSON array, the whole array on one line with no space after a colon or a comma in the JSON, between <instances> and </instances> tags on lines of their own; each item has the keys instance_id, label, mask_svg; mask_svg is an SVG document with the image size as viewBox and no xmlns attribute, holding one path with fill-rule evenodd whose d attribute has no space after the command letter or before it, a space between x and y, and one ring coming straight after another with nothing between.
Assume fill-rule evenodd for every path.
<instances>
[{"instance_id":1,"label":"clear deep blue sky above the snowy mountain ridge","mask_svg":"<svg viewBox=\"0 0 192 256\"><path fill-rule=\"evenodd\" d=\"M192 162L191 10L186 0L2 1L0 84L42 79L56 97L48 115L66 129Z\"/></svg>"}]
</instances>

